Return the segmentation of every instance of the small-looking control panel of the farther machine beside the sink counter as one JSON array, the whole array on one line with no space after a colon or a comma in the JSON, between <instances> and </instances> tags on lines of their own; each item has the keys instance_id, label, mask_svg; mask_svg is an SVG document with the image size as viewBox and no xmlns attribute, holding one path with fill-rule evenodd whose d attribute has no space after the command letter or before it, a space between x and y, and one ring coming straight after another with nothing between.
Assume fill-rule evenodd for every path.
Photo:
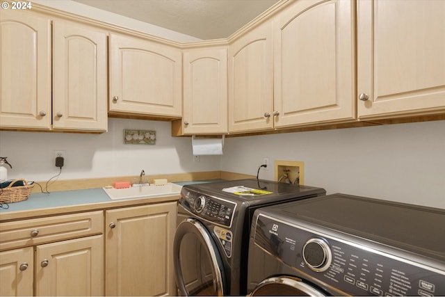
<instances>
[{"instance_id":1,"label":"small-looking control panel of the farther machine beside the sink counter","mask_svg":"<svg viewBox=\"0 0 445 297\"><path fill-rule=\"evenodd\" d=\"M182 188L179 204L211 223L232 226L236 203Z\"/></svg>"}]
</instances>

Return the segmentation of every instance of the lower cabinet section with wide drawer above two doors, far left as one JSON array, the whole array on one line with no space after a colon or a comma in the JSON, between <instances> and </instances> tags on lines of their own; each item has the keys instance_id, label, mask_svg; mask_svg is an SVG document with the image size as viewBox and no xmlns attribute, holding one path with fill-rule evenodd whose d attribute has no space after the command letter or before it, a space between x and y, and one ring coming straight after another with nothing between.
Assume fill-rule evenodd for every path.
<instances>
[{"instance_id":1,"label":"lower cabinet section with wide drawer above two doors, far left","mask_svg":"<svg viewBox=\"0 0 445 297\"><path fill-rule=\"evenodd\" d=\"M0 223L0 296L103 296L103 211Z\"/></svg>"}]
</instances>

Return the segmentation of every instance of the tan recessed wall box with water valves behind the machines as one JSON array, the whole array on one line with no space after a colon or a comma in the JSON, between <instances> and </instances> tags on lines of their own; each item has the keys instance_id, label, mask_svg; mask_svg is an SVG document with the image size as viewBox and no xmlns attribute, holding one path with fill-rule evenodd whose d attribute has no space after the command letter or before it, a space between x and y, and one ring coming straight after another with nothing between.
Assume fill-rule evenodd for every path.
<instances>
[{"instance_id":1,"label":"tan recessed wall box with water valves behind the machines","mask_svg":"<svg viewBox=\"0 0 445 297\"><path fill-rule=\"evenodd\" d=\"M275 160L275 181L305 184L305 162Z\"/></svg>"}]
</instances>

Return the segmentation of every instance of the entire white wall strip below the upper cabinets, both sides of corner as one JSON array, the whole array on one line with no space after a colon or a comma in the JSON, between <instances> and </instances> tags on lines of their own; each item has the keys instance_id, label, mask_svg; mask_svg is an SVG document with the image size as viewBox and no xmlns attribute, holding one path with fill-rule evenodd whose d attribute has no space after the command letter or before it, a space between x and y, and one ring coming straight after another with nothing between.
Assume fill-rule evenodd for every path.
<instances>
[{"instance_id":1,"label":"entire white wall strip below the upper cabinets, both sides of corner","mask_svg":"<svg viewBox=\"0 0 445 297\"><path fill-rule=\"evenodd\" d=\"M124 145L124 129L156 131L156 145ZM110 119L105 134L0 131L8 177L44 181L58 173L54 150L65 150L58 179L226 170L256 175L263 157L305 162L305 184L445 209L445 121L226 138L223 156L193 162L191 138L170 136L170 122Z\"/></svg>"}]
</instances>

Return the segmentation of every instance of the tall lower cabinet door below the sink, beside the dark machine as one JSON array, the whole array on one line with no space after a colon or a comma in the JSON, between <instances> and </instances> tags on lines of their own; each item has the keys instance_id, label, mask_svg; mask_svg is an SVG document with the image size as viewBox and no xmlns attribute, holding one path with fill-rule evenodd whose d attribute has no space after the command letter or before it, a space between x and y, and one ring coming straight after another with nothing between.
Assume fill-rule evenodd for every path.
<instances>
[{"instance_id":1,"label":"tall lower cabinet door below the sink, beside the dark machine","mask_svg":"<svg viewBox=\"0 0 445 297\"><path fill-rule=\"evenodd\" d=\"M106 296L175 296L176 202L106 211Z\"/></svg>"}]
</instances>

